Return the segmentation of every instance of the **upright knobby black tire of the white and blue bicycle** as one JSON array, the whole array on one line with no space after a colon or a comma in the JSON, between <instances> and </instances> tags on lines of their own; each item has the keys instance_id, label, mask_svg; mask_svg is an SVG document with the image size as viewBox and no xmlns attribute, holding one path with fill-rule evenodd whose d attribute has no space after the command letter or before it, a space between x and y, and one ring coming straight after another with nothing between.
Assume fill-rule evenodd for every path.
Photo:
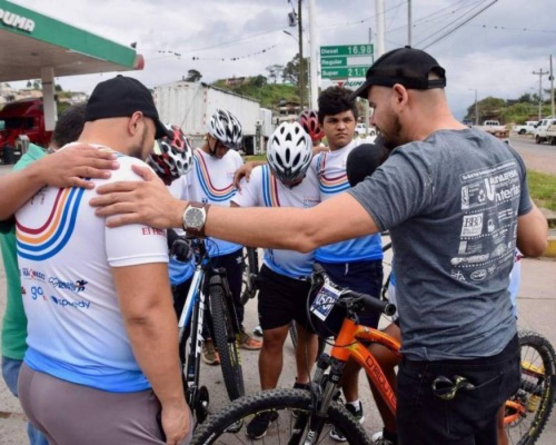
<instances>
[{"instance_id":1,"label":"upright knobby black tire of the white and blue bicycle","mask_svg":"<svg viewBox=\"0 0 556 445\"><path fill-rule=\"evenodd\" d=\"M237 344L236 333L226 304L226 296L221 286L213 285L209 296L214 343L220 355L222 377L230 400L245 394L241 355Z\"/></svg>"}]
</instances>

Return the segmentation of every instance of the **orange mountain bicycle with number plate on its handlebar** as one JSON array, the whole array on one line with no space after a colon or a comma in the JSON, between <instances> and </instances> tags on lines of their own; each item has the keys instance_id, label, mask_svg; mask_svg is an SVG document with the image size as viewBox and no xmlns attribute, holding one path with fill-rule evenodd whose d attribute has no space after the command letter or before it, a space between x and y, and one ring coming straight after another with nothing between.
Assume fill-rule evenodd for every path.
<instances>
[{"instance_id":1,"label":"orange mountain bicycle with number plate on its handlebar","mask_svg":"<svg viewBox=\"0 0 556 445\"><path fill-rule=\"evenodd\" d=\"M272 389L247 395L234 400L229 406L207 419L196 431L192 444L245 444L255 443L255 439L246 436L246 432L237 425L260 413L267 413L271 425L266 435L262 437L264 444L313 445L336 443L329 437L329 430L334 427L339 430L348 443L357 445L371 445L371 439L361 424L339 403L334 396L341 380L345 363L353 358L365 370L369 379L378 388L381 397L392 413L396 412L396 394L385 377L380 364L362 342L381 344L396 355L400 355L400 343L380 330L358 325L358 313L364 309L380 310L385 315L393 315L395 306L388 301L381 301L369 295L350 290L339 289L327 278L324 270L316 268L313 275L314 292L307 302L313 317L324 322L333 308L340 306L345 310L345 318L337 334L330 355L321 354L310 389ZM309 308L308 308L309 309ZM551 347L552 348L552 347ZM539 349L539 348L537 348ZM542 348L541 348L542 349ZM553 352L553 350L552 350ZM553 356L552 356L553 358ZM522 361L523 361L522 349ZM542 358L545 360L546 356ZM529 374L527 384L522 384L520 392L507 403L507 416L504 419L508 428L517 427L533 411L535 432L540 433L539 412L544 406L544 413L549 413L554 402L554 375L547 373L553 368L542 362L529 362L524 367ZM552 362L552 366L553 366ZM528 370L527 370L528 369ZM329 372L325 373L326 370ZM523 380L523 377L522 377ZM530 402L532 395L535 405ZM537 407L538 404L538 407ZM548 417L543 414L543 426ZM520 445L534 443L538 437L528 436L531 428L519 437ZM523 432L520 431L520 434ZM532 441L530 441L530 439Z\"/></svg>"}]
</instances>

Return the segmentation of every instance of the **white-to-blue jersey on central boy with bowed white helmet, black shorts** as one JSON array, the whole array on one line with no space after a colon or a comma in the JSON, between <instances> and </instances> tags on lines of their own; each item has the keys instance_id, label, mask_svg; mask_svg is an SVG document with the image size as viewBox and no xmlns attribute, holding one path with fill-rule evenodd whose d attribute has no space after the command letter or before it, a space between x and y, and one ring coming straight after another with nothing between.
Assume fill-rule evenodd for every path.
<instances>
[{"instance_id":1,"label":"white-to-blue jersey on central boy with bowed white helmet, black shorts","mask_svg":"<svg viewBox=\"0 0 556 445\"><path fill-rule=\"evenodd\" d=\"M309 169L301 183L290 188L272 175L268 165L261 165L253 169L249 182L242 180L232 201L241 207L314 207L320 202L319 184ZM311 274L314 252L265 249L263 261L277 274L301 278Z\"/></svg>"}]
</instances>

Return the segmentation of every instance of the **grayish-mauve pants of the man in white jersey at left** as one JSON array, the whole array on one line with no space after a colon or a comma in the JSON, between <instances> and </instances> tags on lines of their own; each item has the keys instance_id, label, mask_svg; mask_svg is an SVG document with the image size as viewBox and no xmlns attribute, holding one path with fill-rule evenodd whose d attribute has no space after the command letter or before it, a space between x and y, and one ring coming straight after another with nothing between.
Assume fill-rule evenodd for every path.
<instances>
[{"instance_id":1,"label":"grayish-mauve pants of the man in white jersey at left","mask_svg":"<svg viewBox=\"0 0 556 445\"><path fill-rule=\"evenodd\" d=\"M51 445L165 443L156 420L160 402L150 389L106 392L34 371L24 363L18 389L29 422Z\"/></svg>"}]
</instances>

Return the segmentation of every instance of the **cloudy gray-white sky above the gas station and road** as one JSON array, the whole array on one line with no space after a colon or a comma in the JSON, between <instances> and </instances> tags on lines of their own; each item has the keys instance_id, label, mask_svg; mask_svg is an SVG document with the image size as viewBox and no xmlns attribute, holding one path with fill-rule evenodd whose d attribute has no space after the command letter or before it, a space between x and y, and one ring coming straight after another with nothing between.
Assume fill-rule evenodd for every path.
<instances>
[{"instance_id":1,"label":"cloudy gray-white sky above the gas station and road","mask_svg":"<svg viewBox=\"0 0 556 445\"><path fill-rule=\"evenodd\" d=\"M426 48L446 69L450 105L457 117L486 96L517 98L538 91L532 71L549 68L556 56L552 0L498 0L449 36L458 23L493 0L413 0L413 45ZM137 42L146 66L133 76L147 86L179 80L194 68L211 82L217 78L267 74L272 63L285 65L297 42L283 31L291 5L286 0L14 0L125 45ZM408 2L386 0L386 50L407 43ZM297 1L295 0L297 5ZM306 1L303 15L307 17ZM376 30L373 0L316 0L319 45L366 43ZM305 27L308 40L308 22ZM376 42L376 35L372 36ZM275 45L275 46L274 46ZM274 46L265 53L254 55ZM173 51L181 57L165 55ZM307 50L305 50L307 51ZM237 61L225 60L252 55ZM192 57L200 60L192 60ZM556 63L556 60L555 60ZM556 70L556 66L555 66ZM64 89L90 92L108 75L58 78ZM544 77L548 87L548 76ZM326 86L327 83L322 85ZM533 88L533 89L532 89Z\"/></svg>"}]
</instances>

